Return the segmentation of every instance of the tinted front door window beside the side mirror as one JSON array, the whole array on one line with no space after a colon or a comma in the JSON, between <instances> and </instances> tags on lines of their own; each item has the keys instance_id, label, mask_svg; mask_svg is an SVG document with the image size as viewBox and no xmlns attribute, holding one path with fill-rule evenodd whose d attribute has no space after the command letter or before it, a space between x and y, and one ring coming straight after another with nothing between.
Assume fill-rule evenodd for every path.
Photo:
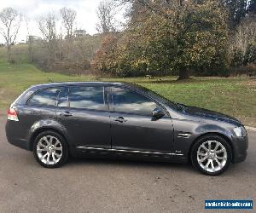
<instances>
[{"instance_id":1,"label":"tinted front door window beside the side mirror","mask_svg":"<svg viewBox=\"0 0 256 213\"><path fill-rule=\"evenodd\" d=\"M113 110L151 116L157 107L154 101L128 89L112 88Z\"/></svg>"}]
</instances>

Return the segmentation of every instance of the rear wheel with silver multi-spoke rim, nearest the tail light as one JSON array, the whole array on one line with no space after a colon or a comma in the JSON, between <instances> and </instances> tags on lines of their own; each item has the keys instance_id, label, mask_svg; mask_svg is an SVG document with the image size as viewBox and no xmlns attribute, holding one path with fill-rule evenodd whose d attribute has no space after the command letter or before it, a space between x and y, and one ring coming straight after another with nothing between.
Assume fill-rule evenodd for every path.
<instances>
[{"instance_id":1,"label":"rear wheel with silver multi-spoke rim, nearest the tail light","mask_svg":"<svg viewBox=\"0 0 256 213\"><path fill-rule=\"evenodd\" d=\"M68 147L65 139L52 130L46 130L36 137L33 154L38 164L45 168L57 168L67 162Z\"/></svg>"}]
</instances>

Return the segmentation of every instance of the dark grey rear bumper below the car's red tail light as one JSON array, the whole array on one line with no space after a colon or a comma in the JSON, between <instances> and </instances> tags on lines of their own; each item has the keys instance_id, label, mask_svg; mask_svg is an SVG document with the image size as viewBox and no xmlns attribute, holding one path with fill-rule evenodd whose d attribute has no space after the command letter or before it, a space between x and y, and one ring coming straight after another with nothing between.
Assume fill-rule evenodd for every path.
<instances>
[{"instance_id":1,"label":"dark grey rear bumper below the car's red tail light","mask_svg":"<svg viewBox=\"0 0 256 213\"><path fill-rule=\"evenodd\" d=\"M5 133L6 133L7 140L9 141L10 144L26 150L31 150L29 141L26 139L23 139L22 136L19 134L19 131L18 131L18 134L15 135L15 133L17 133L17 131L15 131L15 121L8 120L6 122Z\"/></svg>"}]
</instances>

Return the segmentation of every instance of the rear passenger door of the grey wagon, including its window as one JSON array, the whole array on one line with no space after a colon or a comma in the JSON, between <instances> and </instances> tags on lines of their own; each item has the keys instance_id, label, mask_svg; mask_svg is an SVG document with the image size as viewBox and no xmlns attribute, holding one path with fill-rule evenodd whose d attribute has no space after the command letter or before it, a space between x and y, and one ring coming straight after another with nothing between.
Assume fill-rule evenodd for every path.
<instances>
[{"instance_id":1,"label":"rear passenger door of the grey wagon, including its window","mask_svg":"<svg viewBox=\"0 0 256 213\"><path fill-rule=\"evenodd\" d=\"M75 147L111 148L108 102L103 86L69 86L56 107L59 122Z\"/></svg>"}]
</instances>

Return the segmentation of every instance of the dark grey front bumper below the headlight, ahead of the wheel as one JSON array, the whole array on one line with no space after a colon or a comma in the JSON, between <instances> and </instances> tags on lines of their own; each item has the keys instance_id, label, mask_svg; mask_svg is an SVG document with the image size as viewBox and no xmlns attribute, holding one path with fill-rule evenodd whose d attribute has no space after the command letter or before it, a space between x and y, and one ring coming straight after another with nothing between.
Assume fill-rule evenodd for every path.
<instances>
[{"instance_id":1,"label":"dark grey front bumper below the headlight, ahead of the wheel","mask_svg":"<svg viewBox=\"0 0 256 213\"><path fill-rule=\"evenodd\" d=\"M233 158L232 163L238 164L247 158L248 136L236 137L233 142Z\"/></svg>"}]
</instances>

